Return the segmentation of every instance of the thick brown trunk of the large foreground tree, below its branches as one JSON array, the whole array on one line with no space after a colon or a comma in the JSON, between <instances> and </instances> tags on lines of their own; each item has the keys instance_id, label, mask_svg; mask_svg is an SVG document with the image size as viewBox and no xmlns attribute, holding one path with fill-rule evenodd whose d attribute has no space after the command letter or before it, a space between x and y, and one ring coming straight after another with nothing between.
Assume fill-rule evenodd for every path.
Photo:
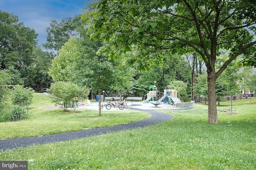
<instances>
[{"instance_id":1,"label":"thick brown trunk of the large foreground tree, below its branches","mask_svg":"<svg viewBox=\"0 0 256 170\"><path fill-rule=\"evenodd\" d=\"M218 115L216 107L216 74L215 71L207 71L208 77L208 123L218 124Z\"/></svg>"}]
</instances>

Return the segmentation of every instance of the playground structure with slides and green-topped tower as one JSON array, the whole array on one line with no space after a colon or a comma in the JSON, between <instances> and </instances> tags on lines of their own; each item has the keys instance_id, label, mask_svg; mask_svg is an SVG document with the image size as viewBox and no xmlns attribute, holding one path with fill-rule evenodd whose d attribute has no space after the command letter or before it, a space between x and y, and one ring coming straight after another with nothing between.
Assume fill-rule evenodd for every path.
<instances>
[{"instance_id":1,"label":"playground structure with slides and green-topped tower","mask_svg":"<svg viewBox=\"0 0 256 170\"><path fill-rule=\"evenodd\" d=\"M180 99L177 97L177 90L170 89L168 85L164 89L164 92L157 91L156 85L149 86L149 92L145 97L147 96L146 100L143 100L142 102L150 102L154 104L156 107L159 104L174 104L181 103ZM162 103L163 101L163 103Z\"/></svg>"}]
</instances>

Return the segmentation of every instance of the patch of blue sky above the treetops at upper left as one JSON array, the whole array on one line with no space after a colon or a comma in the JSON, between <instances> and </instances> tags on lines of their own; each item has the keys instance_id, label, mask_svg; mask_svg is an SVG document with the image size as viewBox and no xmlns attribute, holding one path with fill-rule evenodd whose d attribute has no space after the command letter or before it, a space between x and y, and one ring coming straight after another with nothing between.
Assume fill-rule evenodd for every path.
<instances>
[{"instance_id":1,"label":"patch of blue sky above the treetops at upper left","mask_svg":"<svg viewBox=\"0 0 256 170\"><path fill-rule=\"evenodd\" d=\"M38 45L46 43L45 28L50 20L81 14L90 0L0 0L0 10L18 16L26 27L38 33Z\"/></svg>"}]
</instances>

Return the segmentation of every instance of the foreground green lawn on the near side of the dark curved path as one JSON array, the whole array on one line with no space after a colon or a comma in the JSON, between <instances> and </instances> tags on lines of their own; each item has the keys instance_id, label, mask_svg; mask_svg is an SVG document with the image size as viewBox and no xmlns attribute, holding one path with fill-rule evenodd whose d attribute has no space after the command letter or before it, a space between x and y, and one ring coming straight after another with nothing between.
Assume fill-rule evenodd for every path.
<instances>
[{"instance_id":1,"label":"foreground green lawn on the near side of the dark curved path","mask_svg":"<svg viewBox=\"0 0 256 170\"><path fill-rule=\"evenodd\" d=\"M166 111L174 119L158 125L7 150L0 160L29 160L29 170L256 169L256 99L233 101L236 114L220 111L230 102L217 109L218 125L206 123L207 105L196 104Z\"/></svg>"}]
</instances>

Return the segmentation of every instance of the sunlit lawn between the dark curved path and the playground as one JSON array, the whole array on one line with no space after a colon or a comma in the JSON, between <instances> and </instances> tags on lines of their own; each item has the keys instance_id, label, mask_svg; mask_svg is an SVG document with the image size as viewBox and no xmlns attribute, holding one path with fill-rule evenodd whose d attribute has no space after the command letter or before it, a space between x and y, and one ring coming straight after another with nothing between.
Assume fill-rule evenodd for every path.
<instances>
[{"instance_id":1,"label":"sunlit lawn between the dark curved path and the playground","mask_svg":"<svg viewBox=\"0 0 256 170\"><path fill-rule=\"evenodd\" d=\"M23 121L0 123L0 139L32 137L78 131L97 127L106 127L129 123L150 117L149 113L140 111L98 111L62 109L42 109L42 106L53 106L49 96L35 93L33 103L29 107L29 118Z\"/></svg>"}]
</instances>

